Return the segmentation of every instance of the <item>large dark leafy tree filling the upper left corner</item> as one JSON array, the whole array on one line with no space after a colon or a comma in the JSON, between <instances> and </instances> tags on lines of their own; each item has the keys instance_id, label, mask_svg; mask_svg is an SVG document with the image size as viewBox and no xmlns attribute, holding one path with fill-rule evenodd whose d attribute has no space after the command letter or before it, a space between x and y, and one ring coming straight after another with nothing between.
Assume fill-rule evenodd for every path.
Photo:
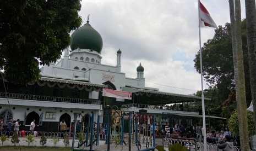
<instances>
[{"instance_id":1,"label":"large dark leafy tree filling the upper left corner","mask_svg":"<svg viewBox=\"0 0 256 151\"><path fill-rule=\"evenodd\" d=\"M14 83L39 80L39 65L60 58L81 25L80 0L0 0L0 68Z\"/></svg>"}]
</instances>

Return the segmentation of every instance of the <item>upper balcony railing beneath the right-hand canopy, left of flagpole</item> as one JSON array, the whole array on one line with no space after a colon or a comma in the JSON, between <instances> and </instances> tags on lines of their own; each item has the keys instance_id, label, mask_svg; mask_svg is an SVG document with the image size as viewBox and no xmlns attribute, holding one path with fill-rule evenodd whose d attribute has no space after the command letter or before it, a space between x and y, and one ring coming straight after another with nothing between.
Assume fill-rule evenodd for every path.
<instances>
[{"instance_id":1,"label":"upper balcony railing beneath the right-hand canopy, left of flagpole","mask_svg":"<svg viewBox=\"0 0 256 151\"><path fill-rule=\"evenodd\" d=\"M162 106L155 106L149 104L139 104L139 103L130 103L126 104L126 107L138 107L138 108L150 108L150 109L163 109L163 110L170 110L170 111L184 111L184 112L198 112L198 109L195 108L179 108L179 107L162 107Z\"/></svg>"}]
</instances>

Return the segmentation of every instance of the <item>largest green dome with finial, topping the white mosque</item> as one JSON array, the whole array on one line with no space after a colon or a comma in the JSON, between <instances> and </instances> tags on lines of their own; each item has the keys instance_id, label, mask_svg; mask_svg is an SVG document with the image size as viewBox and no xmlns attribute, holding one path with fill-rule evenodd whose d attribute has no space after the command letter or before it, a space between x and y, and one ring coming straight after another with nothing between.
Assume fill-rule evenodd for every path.
<instances>
[{"instance_id":1,"label":"largest green dome with finial, topping the white mosque","mask_svg":"<svg viewBox=\"0 0 256 151\"><path fill-rule=\"evenodd\" d=\"M101 53L103 43L100 33L91 27L89 21L71 35L71 50L90 49Z\"/></svg>"}]
</instances>

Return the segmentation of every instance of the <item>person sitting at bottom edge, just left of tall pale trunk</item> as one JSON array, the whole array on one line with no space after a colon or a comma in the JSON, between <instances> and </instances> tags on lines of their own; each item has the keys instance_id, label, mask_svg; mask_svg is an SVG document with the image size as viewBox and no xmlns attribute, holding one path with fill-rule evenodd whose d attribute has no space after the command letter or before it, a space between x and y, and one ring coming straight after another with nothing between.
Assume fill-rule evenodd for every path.
<instances>
[{"instance_id":1,"label":"person sitting at bottom edge, just left of tall pale trunk","mask_svg":"<svg viewBox=\"0 0 256 151\"><path fill-rule=\"evenodd\" d=\"M223 151L233 151L233 142L231 142L231 136L226 135L224 139L219 138L217 142L217 148Z\"/></svg>"}]
</instances>

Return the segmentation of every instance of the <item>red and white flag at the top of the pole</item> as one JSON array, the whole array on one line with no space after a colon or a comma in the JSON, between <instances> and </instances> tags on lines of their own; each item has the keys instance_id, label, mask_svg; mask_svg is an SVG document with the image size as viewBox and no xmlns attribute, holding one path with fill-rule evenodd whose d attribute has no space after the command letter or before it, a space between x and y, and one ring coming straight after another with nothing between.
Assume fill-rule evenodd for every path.
<instances>
[{"instance_id":1,"label":"red and white flag at the top of the pole","mask_svg":"<svg viewBox=\"0 0 256 151\"><path fill-rule=\"evenodd\" d=\"M204 5L201 2L200 2L200 9L199 9L199 17L200 17L201 21L203 21L204 26L217 28L214 20L211 18L210 13L208 12L208 10L204 7Z\"/></svg>"}]
</instances>

